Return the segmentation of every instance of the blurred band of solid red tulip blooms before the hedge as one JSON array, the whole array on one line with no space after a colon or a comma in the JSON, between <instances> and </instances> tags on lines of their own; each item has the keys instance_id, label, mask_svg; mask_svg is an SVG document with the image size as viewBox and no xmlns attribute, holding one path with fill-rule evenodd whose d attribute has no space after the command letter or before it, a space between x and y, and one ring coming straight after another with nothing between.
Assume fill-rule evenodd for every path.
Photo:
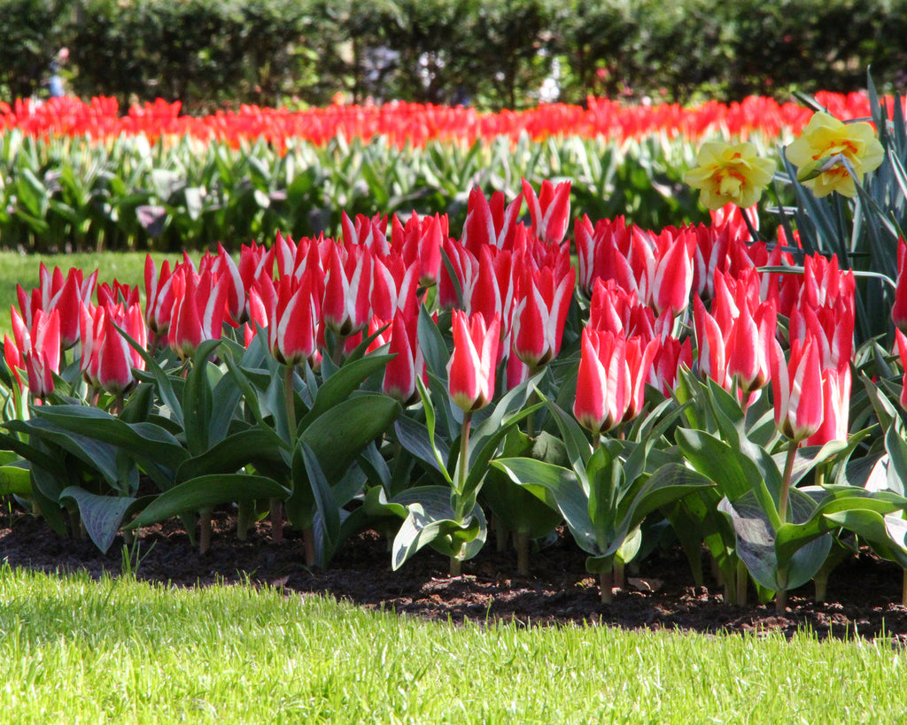
<instances>
[{"instance_id":1,"label":"blurred band of solid red tulip blooms before the hedge","mask_svg":"<svg viewBox=\"0 0 907 725\"><path fill-rule=\"evenodd\" d=\"M815 99L837 118L869 116L867 97L819 92ZM794 102L751 96L743 102L706 102L685 108L676 103L626 106L617 101L590 98L587 106L542 104L530 111L482 112L473 108L391 102L385 105L333 105L305 111L242 106L239 111L218 111L203 117L180 115L180 102L161 99L135 105L121 113L118 102L98 97L83 102L73 97L45 102L16 100L0 103L0 131L18 128L34 136L91 136L97 140L123 134L144 134L149 140L191 136L225 140L239 145L264 139L278 149L290 140L325 144L337 136L371 139L384 136L398 146L421 146L431 140L473 143L497 136L530 140L575 135L622 142L651 134L699 140L721 132L746 139L761 133L770 138L796 134L812 111Z\"/></svg>"}]
</instances>

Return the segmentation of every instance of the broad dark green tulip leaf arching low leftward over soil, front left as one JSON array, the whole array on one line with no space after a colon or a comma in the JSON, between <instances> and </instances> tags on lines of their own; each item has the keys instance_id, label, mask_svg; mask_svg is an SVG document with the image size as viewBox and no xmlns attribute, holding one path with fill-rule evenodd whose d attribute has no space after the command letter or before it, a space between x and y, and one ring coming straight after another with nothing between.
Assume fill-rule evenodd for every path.
<instances>
[{"instance_id":1,"label":"broad dark green tulip leaf arching low leftward over soil, front left","mask_svg":"<svg viewBox=\"0 0 907 725\"><path fill-rule=\"evenodd\" d=\"M199 476L164 491L126 528L151 526L187 511L198 511L201 508L220 506L233 501L287 498L288 495L288 488L281 486L273 478L264 476L244 473Z\"/></svg>"}]
</instances>

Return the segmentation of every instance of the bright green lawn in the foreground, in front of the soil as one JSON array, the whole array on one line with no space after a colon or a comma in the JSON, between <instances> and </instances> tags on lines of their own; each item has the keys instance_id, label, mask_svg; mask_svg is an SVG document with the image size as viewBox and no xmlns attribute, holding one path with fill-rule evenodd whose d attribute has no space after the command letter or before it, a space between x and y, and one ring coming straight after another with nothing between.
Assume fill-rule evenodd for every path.
<instances>
[{"instance_id":1,"label":"bright green lawn in the foreground, in front of the soil","mask_svg":"<svg viewBox=\"0 0 907 725\"><path fill-rule=\"evenodd\" d=\"M0 632L0 720L17 723L851 723L907 711L889 643L806 634L453 626L248 586L8 566Z\"/></svg>"}]
</instances>

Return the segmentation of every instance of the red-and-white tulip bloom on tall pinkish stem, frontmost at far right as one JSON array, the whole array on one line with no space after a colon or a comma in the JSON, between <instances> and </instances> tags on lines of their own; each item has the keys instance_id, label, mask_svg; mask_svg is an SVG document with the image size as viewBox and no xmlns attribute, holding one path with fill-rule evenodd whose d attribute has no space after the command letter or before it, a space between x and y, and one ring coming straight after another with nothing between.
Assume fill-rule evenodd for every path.
<instances>
[{"instance_id":1,"label":"red-and-white tulip bloom on tall pinkish stem, frontmost at far right","mask_svg":"<svg viewBox=\"0 0 907 725\"><path fill-rule=\"evenodd\" d=\"M798 443L822 425L824 397L818 346L810 336L802 345L795 340L791 343L790 360L785 362L781 345L775 340L771 364L775 425Z\"/></svg>"}]
</instances>

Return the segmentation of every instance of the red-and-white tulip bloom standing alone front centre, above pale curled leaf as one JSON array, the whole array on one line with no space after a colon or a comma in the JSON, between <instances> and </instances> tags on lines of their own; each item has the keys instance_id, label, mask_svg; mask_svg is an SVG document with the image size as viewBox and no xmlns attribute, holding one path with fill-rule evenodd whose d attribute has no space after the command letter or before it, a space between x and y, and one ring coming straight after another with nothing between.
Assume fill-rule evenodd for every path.
<instances>
[{"instance_id":1,"label":"red-and-white tulip bloom standing alone front centre, above pale curled leaf","mask_svg":"<svg viewBox=\"0 0 907 725\"><path fill-rule=\"evenodd\" d=\"M463 411L478 411L494 397L500 335L497 314L486 324L481 313L467 319L462 310L453 310L453 354L447 363L447 385L454 404Z\"/></svg>"}]
</instances>

